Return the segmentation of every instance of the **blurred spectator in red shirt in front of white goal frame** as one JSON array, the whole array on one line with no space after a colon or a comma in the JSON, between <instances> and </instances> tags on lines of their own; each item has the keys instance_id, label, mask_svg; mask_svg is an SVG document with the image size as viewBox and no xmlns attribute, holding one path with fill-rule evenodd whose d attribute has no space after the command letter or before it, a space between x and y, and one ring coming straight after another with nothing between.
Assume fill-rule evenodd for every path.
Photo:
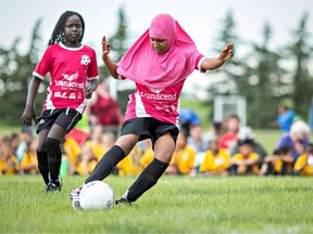
<instances>
[{"instance_id":1,"label":"blurred spectator in red shirt in front of white goal frame","mask_svg":"<svg viewBox=\"0 0 313 234\"><path fill-rule=\"evenodd\" d=\"M237 133L240 129L240 118L237 115L226 117L226 133L220 138L220 148L228 151L230 146L236 144Z\"/></svg>"}]
</instances>

